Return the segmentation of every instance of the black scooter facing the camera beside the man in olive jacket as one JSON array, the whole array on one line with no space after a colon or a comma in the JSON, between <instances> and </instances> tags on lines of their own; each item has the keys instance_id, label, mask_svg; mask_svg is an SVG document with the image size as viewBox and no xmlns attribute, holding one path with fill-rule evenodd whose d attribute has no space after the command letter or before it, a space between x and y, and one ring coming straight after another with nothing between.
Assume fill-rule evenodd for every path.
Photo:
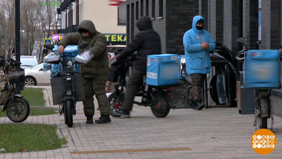
<instances>
[{"instance_id":1,"label":"black scooter facing the camera beside the man in olive jacket","mask_svg":"<svg viewBox=\"0 0 282 159\"><path fill-rule=\"evenodd\" d=\"M79 55L83 52L83 49L85 49L87 46L88 44L81 44L79 46L79 48L81 49ZM51 50L51 52L53 52L55 55L60 57L58 53L53 51L54 45L48 44L48 45L44 45L44 47L46 48L46 49L43 49L44 54L48 54L48 50ZM63 70L61 70L58 75L60 77L58 79L61 80L62 82L61 85L63 86L62 87L63 94L61 98L62 108L60 107L59 113L60 115L64 114L65 124L67 124L68 127L73 127L73 115L76 114L75 106L76 106L76 98L77 98L75 95L76 88L77 88L75 83L76 83L76 79L78 78L77 75L79 75L77 70L73 70L73 65L80 63L80 62L77 62L77 61L72 62L71 60L66 60L68 61L66 63L64 60L59 58L58 62L46 62L46 63L63 64ZM51 85L52 85L52 82L51 82ZM83 86L80 86L80 87L83 87Z\"/></svg>"}]
</instances>

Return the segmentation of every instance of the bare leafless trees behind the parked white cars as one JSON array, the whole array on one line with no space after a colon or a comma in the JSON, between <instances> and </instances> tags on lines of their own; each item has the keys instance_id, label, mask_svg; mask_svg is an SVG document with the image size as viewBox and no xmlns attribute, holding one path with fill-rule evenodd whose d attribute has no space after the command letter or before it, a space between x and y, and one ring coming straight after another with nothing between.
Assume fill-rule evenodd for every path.
<instances>
[{"instance_id":1,"label":"bare leafless trees behind the parked white cars","mask_svg":"<svg viewBox=\"0 0 282 159\"><path fill-rule=\"evenodd\" d=\"M8 51L14 47L15 39L15 1L0 0L0 56L4 56L5 28L8 29ZM21 54L31 55L35 49L43 50L43 39L56 34L58 24L57 8L61 1L21 0ZM39 56L39 60L42 57Z\"/></svg>"}]
</instances>

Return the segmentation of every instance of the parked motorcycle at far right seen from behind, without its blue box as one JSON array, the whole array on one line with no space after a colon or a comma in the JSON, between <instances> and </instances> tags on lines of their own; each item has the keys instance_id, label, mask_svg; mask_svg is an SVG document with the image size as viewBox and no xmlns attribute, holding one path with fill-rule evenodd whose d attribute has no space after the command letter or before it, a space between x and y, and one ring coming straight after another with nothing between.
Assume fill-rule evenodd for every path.
<instances>
[{"instance_id":1,"label":"parked motorcycle at far right seen from behind, without its blue box","mask_svg":"<svg viewBox=\"0 0 282 159\"><path fill-rule=\"evenodd\" d=\"M248 48L245 45L245 43L247 42L247 39L245 37L240 37L240 38L236 38L236 41L243 44L244 47L246 48L238 52L238 54L236 55L236 59L239 62L244 62L244 60L246 59L245 56L247 56L246 52L248 51ZM259 43L260 42L257 42L257 50L255 51L259 50ZM281 48L282 48L282 45L277 49L279 51L280 59L282 57ZM255 56L255 53L253 54ZM244 72L244 76L245 76L245 72ZM244 83L245 83L245 79L244 79ZM271 118L270 130L272 131L272 125L274 124L274 120L273 120L273 116L271 115L270 91L271 91L270 88L255 89L254 94L255 94L256 107L255 107L254 126L256 127L256 130L257 130L257 127L259 127L260 129L267 129L267 119Z\"/></svg>"}]
</instances>

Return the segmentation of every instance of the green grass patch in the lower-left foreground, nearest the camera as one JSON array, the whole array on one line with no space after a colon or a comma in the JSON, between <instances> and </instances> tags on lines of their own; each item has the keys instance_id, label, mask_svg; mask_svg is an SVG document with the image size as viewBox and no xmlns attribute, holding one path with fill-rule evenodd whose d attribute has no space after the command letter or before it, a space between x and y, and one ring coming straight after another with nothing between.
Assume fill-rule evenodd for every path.
<instances>
[{"instance_id":1,"label":"green grass patch in the lower-left foreground, nearest the camera","mask_svg":"<svg viewBox=\"0 0 282 159\"><path fill-rule=\"evenodd\" d=\"M58 138L56 125L0 124L0 153L44 151L61 148L66 139Z\"/></svg>"}]
</instances>

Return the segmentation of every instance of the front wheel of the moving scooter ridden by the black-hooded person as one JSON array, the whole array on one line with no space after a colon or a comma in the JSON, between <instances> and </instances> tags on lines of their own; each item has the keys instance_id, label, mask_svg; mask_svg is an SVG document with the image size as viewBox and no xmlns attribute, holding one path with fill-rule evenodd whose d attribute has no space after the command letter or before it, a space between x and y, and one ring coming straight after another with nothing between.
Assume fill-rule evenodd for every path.
<instances>
[{"instance_id":1,"label":"front wheel of the moving scooter ridden by the black-hooded person","mask_svg":"<svg viewBox=\"0 0 282 159\"><path fill-rule=\"evenodd\" d=\"M120 109L124 101L124 94L122 93L122 91L118 91L117 93L118 93L117 97L116 97L116 92L113 92L108 97L109 104L110 104L110 113L113 117L120 117L120 115L116 115L114 111L117 109Z\"/></svg>"}]
</instances>

